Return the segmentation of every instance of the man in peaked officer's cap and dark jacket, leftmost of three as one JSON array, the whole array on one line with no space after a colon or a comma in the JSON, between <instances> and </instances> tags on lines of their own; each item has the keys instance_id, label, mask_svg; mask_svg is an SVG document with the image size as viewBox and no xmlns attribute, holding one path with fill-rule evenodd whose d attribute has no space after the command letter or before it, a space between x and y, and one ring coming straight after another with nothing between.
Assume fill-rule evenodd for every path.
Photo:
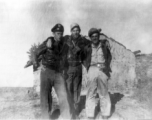
<instances>
[{"instance_id":1,"label":"man in peaked officer's cap and dark jacket, leftmost of three","mask_svg":"<svg viewBox=\"0 0 152 120\"><path fill-rule=\"evenodd\" d=\"M69 98L66 90L66 83L62 75L62 48L64 28L56 24L52 28L54 37L47 38L38 48L36 58L42 57L40 73L40 108L42 118L49 119L49 112L52 109L51 91L54 87L59 99L60 117L71 119ZM37 64L36 62L34 63Z\"/></svg>"}]
</instances>

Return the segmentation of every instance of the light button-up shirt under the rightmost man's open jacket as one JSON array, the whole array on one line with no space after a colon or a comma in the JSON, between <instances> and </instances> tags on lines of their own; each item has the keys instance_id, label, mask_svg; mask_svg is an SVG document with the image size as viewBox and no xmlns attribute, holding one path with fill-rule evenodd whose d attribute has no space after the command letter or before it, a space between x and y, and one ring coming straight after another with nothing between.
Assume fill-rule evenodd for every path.
<instances>
[{"instance_id":1,"label":"light button-up shirt under the rightmost man's open jacket","mask_svg":"<svg viewBox=\"0 0 152 120\"><path fill-rule=\"evenodd\" d=\"M102 51L101 43L97 47L92 44L92 55L91 55L91 65L92 64L103 64L105 58Z\"/></svg>"}]
</instances>

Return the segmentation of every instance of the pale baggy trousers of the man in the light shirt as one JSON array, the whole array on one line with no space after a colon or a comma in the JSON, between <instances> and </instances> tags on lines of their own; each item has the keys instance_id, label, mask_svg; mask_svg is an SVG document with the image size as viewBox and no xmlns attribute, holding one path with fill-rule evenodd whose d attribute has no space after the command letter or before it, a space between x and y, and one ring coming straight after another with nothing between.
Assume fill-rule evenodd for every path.
<instances>
[{"instance_id":1,"label":"pale baggy trousers of the man in the light shirt","mask_svg":"<svg viewBox=\"0 0 152 120\"><path fill-rule=\"evenodd\" d=\"M108 93L108 77L98 67L91 66L88 71L88 85L86 95L86 115L94 117L95 108L99 96L100 111L102 116L109 116L111 112L111 101Z\"/></svg>"}]
</instances>

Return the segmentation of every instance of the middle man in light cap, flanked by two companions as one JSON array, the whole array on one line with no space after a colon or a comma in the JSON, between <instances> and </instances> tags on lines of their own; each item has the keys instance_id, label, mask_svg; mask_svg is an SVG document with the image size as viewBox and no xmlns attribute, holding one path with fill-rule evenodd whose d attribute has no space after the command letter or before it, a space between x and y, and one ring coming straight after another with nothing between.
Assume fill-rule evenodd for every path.
<instances>
[{"instance_id":1,"label":"middle man in light cap, flanked by two companions","mask_svg":"<svg viewBox=\"0 0 152 120\"><path fill-rule=\"evenodd\" d=\"M80 101L80 92L82 84L82 64L84 60L84 46L88 44L88 40L80 35L80 26L76 23L71 25L71 35L65 36L67 45L65 66L65 74L67 74L66 83L73 105L78 115L78 103Z\"/></svg>"}]
</instances>

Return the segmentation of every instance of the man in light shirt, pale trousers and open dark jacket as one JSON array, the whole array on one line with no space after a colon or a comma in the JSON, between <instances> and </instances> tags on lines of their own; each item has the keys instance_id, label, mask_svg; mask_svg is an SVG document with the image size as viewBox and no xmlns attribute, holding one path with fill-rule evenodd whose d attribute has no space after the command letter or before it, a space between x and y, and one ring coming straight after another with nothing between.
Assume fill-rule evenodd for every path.
<instances>
[{"instance_id":1,"label":"man in light shirt, pale trousers and open dark jacket","mask_svg":"<svg viewBox=\"0 0 152 120\"><path fill-rule=\"evenodd\" d=\"M107 119L111 112L111 101L108 94L111 62L109 43L105 40L99 40L100 31L96 28L91 28L88 35L91 43L85 48L87 49L85 65L89 78L86 95L86 115L91 119L95 117L96 96L98 94L101 117Z\"/></svg>"}]
</instances>

